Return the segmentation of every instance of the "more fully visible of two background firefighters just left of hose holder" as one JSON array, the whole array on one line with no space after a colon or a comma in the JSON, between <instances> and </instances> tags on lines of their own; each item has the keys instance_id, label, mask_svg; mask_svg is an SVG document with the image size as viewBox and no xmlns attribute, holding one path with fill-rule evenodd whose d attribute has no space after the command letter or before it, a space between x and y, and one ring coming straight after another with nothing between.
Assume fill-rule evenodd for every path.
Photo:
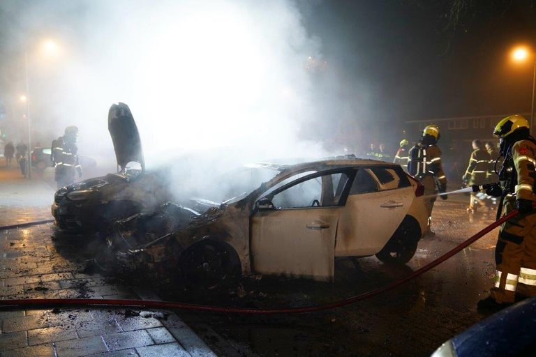
<instances>
[{"instance_id":1,"label":"more fully visible of two background firefighters just left of hose holder","mask_svg":"<svg viewBox=\"0 0 536 357\"><path fill-rule=\"evenodd\" d=\"M468 185L484 185L486 183L486 175L489 169L490 156L487 151L482 150L482 142L476 139L472 141L472 153L469 159L469 165L466 169L466 173L463 174L463 182L467 182ZM482 194L483 196L483 194ZM471 192L469 201L468 213L474 213L477 211L475 204L482 204L482 200L477 199L477 192Z\"/></svg>"}]
</instances>

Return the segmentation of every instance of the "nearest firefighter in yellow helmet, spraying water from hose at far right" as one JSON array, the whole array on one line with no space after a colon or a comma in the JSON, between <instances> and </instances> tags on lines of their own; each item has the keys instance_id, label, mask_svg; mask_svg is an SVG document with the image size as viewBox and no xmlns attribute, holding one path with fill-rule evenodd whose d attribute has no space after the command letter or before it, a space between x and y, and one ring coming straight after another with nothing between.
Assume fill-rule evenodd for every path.
<instances>
[{"instance_id":1,"label":"nearest firefighter in yellow helmet, spraying water from hose at far right","mask_svg":"<svg viewBox=\"0 0 536 357\"><path fill-rule=\"evenodd\" d=\"M502 215L514 208L519 214L500 227L495 283L490 296L479 301L480 310L499 310L516 298L536 296L536 140L530 136L529 128L527 119L512 115L502 119L493 132L500 140L499 153L505 159L499 183L490 185L486 193L501 197Z\"/></svg>"}]
</instances>

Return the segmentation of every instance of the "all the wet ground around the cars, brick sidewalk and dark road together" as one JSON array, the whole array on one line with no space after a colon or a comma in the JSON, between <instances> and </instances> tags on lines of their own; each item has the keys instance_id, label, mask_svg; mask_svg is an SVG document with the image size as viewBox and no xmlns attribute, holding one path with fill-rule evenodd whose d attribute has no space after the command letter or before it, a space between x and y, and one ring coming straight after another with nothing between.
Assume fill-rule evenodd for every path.
<instances>
[{"instance_id":1,"label":"all the wet ground around the cars, brick sidewalk and dark road together","mask_svg":"<svg viewBox=\"0 0 536 357\"><path fill-rule=\"evenodd\" d=\"M0 165L1 167L1 165ZM20 181L23 180L23 181ZM54 189L0 169L0 225L50 218ZM0 231L1 298L164 298L242 307L297 307L338 301L404 278L493 222L469 216L468 197L438 200L435 237L424 238L407 266L375 257L338 259L334 283L255 276L210 294L119 280L91 263L82 236L50 225ZM401 287L366 301L308 314L11 310L0 312L0 356L429 356L484 318L497 231ZM155 294L156 291L156 294Z\"/></svg>"}]
</instances>

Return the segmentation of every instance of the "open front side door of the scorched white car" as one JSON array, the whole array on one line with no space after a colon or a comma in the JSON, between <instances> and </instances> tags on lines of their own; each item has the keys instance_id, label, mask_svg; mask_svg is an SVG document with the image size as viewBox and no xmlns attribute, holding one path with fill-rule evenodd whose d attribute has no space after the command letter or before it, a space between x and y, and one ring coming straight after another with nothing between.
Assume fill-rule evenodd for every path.
<instances>
[{"instance_id":1,"label":"open front side door of the scorched white car","mask_svg":"<svg viewBox=\"0 0 536 357\"><path fill-rule=\"evenodd\" d=\"M351 176L312 174L261 198L251 218L253 271L333 280L338 218ZM336 195L341 183L348 188Z\"/></svg>"}]
</instances>

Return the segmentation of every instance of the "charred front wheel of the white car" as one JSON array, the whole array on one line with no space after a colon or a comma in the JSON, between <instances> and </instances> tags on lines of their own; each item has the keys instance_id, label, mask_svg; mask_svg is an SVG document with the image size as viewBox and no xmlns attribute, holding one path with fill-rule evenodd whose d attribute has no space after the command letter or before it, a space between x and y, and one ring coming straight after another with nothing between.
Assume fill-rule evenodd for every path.
<instances>
[{"instance_id":1,"label":"charred front wheel of the white car","mask_svg":"<svg viewBox=\"0 0 536 357\"><path fill-rule=\"evenodd\" d=\"M221 287L239 275L239 266L230 248L214 242L188 248L181 258L180 268L182 278L194 289Z\"/></svg>"}]
</instances>

